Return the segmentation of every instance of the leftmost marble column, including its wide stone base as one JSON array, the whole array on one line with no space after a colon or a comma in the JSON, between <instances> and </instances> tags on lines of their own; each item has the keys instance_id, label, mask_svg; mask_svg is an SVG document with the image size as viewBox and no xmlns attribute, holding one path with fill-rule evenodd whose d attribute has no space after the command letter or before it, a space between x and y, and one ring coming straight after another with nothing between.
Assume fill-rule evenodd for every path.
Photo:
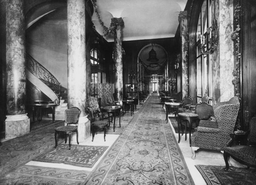
<instances>
[{"instance_id":1,"label":"leftmost marble column, including its wide stone base","mask_svg":"<svg viewBox=\"0 0 256 185\"><path fill-rule=\"evenodd\" d=\"M6 120L5 138L30 132L26 104L26 50L23 0L6 2Z\"/></svg>"}]
</instances>

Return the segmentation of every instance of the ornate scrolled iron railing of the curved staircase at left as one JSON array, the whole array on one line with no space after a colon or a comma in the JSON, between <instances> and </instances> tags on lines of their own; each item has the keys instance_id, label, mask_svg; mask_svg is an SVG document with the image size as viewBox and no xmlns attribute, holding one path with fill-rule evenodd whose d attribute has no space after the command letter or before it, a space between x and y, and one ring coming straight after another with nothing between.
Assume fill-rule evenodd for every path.
<instances>
[{"instance_id":1,"label":"ornate scrolled iron railing of the curved staircase at left","mask_svg":"<svg viewBox=\"0 0 256 185\"><path fill-rule=\"evenodd\" d=\"M26 67L34 76L44 82L60 100L60 82L28 53L26 53Z\"/></svg>"}]
</instances>

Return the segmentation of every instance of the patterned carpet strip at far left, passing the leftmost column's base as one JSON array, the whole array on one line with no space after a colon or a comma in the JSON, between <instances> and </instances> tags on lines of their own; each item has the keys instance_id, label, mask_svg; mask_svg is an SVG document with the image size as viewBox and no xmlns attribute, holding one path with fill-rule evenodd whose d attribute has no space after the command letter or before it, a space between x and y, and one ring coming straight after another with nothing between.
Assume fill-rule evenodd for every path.
<instances>
[{"instance_id":1,"label":"patterned carpet strip at far left, passing the leftmost column's base","mask_svg":"<svg viewBox=\"0 0 256 185\"><path fill-rule=\"evenodd\" d=\"M64 121L60 121L3 142L0 146L0 177L52 149L55 144L54 128L63 124ZM63 142L62 138L58 139L61 139L58 142Z\"/></svg>"}]
</instances>

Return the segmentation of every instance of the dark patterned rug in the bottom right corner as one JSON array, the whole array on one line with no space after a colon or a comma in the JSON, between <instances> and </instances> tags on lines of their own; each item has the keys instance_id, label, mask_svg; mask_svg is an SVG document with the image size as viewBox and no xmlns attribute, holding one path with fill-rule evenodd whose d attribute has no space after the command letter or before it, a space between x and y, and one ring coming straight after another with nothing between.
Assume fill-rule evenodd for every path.
<instances>
[{"instance_id":1,"label":"dark patterned rug in the bottom right corner","mask_svg":"<svg viewBox=\"0 0 256 185\"><path fill-rule=\"evenodd\" d=\"M255 185L256 170L224 166L195 165L207 185Z\"/></svg>"}]
</instances>

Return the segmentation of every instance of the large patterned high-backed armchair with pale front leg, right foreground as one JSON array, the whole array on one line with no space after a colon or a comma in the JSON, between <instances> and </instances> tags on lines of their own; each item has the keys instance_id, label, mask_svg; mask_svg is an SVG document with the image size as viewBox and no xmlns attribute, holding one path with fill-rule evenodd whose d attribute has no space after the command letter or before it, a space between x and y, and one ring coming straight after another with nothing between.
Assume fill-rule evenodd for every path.
<instances>
[{"instance_id":1,"label":"large patterned high-backed armchair with pale front leg, right foreground","mask_svg":"<svg viewBox=\"0 0 256 185\"><path fill-rule=\"evenodd\" d=\"M192 159L196 158L198 148L223 151L234 131L240 103L238 97L230 99L231 103L221 103L214 109L216 121L201 120L196 132L191 137Z\"/></svg>"}]
</instances>

